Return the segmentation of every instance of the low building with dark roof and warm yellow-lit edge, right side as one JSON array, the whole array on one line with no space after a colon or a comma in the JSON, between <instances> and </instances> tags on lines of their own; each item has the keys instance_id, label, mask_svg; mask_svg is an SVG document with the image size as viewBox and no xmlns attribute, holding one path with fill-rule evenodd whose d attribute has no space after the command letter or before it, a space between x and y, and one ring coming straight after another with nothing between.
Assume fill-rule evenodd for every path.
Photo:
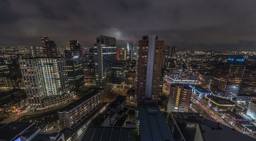
<instances>
[{"instance_id":1,"label":"low building with dark roof and warm yellow-lit edge, right side","mask_svg":"<svg viewBox=\"0 0 256 141\"><path fill-rule=\"evenodd\" d=\"M220 98L214 95L206 95L206 98L219 106L235 106L235 103L231 100Z\"/></svg>"}]
</instances>

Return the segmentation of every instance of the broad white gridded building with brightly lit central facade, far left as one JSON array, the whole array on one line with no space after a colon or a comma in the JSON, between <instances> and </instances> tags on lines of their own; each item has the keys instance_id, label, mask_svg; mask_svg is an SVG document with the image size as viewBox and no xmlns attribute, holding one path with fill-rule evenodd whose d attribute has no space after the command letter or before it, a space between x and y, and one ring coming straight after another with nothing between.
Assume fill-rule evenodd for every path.
<instances>
[{"instance_id":1,"label":"broad white gridded building with brightly lit central facade, far left","mask_svg":"<svg viewBox=\"0 0 256 141\"><path fill-rule=\"evenodd\" d=\"M19 60L30 108L45 109L70 100L65 58Z\"/></svg>"}]
</instances>

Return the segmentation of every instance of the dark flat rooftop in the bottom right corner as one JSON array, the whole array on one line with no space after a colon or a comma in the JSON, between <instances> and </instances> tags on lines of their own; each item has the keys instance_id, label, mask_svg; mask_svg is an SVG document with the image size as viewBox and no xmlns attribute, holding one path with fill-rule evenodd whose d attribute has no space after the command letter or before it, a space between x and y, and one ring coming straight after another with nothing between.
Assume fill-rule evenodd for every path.
<instances>
[{"instance_id":1,"label":"dark flat rooftop in the bottom right corner","mask_svg":"<svg viewBox=\"0 0 256 141\"><path fill-rule=\"evenodd\" d=\"M201 128L205 141L255 141L253 137L208 119L203 119L198 128Z\"/></svg>"}]
</instances>

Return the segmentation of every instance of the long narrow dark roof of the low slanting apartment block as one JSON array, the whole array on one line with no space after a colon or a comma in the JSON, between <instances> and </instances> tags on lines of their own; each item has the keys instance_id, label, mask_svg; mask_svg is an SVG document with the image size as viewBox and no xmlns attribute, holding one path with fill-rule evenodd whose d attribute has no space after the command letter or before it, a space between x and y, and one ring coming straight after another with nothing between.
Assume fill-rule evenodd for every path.
<instances>
[{"instance_id":1,"label":"long narrow dark roof of the low slanting apartment block","mask_svg":"<svg viewBox=\"0 0 256 141\"><path fill-rule=\"evenodd\" d=\"M99 90L94 90L94 91L90 92L88 95L83 96L79 100L76 100L75 102L71 103L70 105L67 105L66 107L64 107L63 109L59 110L58 112L64 112L64 111L65 112L69 112L69 111L73 110L74 108L76 108L77 106L79 106L82 103L84 103L85 101L89 100L94 95L98 94L99 92L100 92Z\"/></svg>"}]
</instances>

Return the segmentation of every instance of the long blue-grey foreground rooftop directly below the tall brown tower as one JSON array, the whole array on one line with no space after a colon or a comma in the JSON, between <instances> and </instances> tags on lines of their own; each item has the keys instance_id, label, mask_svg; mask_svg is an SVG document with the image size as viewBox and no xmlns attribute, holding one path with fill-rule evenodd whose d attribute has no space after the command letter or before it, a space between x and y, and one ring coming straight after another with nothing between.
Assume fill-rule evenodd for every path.
<instances>
[{"instance_id":1,"label":"long blue-grey foreground rooftop directly below the tall brown tower","mask_svg":"<svg viewBox=\"0 0 256 141\"><path fill-rule=\"evenodd\" d=\"M174 141L163 114L157 105L138 105L141 140Z\"/></svg>"}]
</instances>

